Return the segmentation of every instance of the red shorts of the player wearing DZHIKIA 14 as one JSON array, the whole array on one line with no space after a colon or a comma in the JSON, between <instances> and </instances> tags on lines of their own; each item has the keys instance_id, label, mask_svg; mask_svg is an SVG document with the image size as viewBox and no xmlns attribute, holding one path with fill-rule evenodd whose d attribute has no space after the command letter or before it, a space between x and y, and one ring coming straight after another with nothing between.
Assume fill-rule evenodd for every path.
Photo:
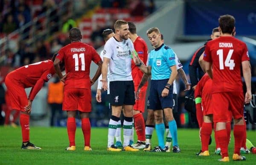
<instances>
[{"instance_id":1,"label":"red shorts of the player wearing DZHIKIA 14","mask_svg":"<svg viewBox=\"0 0 256 165\"><path fill-rule=\"evenodd\" d=\"M244 95L242 92L214 93L212 108L214 122L230 122L232 116L234 119L244 117Z\"/></svg>"}]
</instances>

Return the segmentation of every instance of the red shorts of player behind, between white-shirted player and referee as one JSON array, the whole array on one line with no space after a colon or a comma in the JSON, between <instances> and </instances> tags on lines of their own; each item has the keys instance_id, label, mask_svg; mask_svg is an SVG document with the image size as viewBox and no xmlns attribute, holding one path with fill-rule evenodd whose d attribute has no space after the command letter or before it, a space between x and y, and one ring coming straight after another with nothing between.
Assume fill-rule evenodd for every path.
<instances>
[{"instance_id":1,"label":"red shorts of player behind, between white-shirted player and referee","mask_svg":"<svg viewBox=\"0 0 256 165\"><path fill-rule=\"evenodd\" d=\"M134 85L135 92L138 89L138 86ZM145 111L145 101L146 101L146 94L147 94L147 86L143 86L140 89L140 99L135 100L134 110L140 111L143 113Z\"/></svg>"}]
</instances>

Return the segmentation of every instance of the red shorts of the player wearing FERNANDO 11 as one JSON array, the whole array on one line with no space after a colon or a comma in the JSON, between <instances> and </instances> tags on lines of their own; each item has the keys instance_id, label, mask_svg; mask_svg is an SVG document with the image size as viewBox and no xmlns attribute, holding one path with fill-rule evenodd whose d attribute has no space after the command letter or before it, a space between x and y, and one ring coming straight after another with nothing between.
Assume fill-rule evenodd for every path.
<instances>
[{"instance_id":1,"label":"red shorts of the player wearing FERNANDO 11","mask_svg":"<svg viewBox=\"0 0 256 165\"><path fill-rule=\"evenodd\" d=\"M92 109L91 89L69 88L64 90L64 111L91 112Z\"/></svg>"}]
</instances>

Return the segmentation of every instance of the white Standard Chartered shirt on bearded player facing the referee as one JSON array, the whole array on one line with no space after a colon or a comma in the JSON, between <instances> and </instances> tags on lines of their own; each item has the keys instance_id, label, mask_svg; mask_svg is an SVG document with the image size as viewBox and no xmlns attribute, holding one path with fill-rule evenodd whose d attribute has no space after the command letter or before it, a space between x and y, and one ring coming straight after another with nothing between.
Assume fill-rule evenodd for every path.
<instances>
[{"instance_id":1,"label":"white Standard Chartered shirt on bearded player facing the referee","mask_svg":"<svg viewBox=\"0 0 256 165\"><path fill-rule=\"evenodd\" d=\"M117 41L111 37L105 44L103 57L110 59L108 81L132 81L131 54L134 45L131 39Z\"/></svg>"}]
</instances>

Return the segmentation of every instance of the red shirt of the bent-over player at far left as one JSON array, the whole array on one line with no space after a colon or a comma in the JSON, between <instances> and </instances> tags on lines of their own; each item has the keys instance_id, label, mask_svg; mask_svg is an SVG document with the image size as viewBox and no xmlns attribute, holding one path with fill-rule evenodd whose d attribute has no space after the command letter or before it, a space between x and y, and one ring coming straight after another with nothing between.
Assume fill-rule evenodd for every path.
<instances>
[{"instance_id":1,"label":"red shirt of the bent-over player at far left","mask_svg":"<svg viewBox=\"0 0 256 165\"><path fill-rule=\"evenodd\" d=\"M44 81L49 81L55 74L52 60L36 62L34 64L25 65L13 71L15 79L20 81L24 88L34 87L35 83L43 78Z\"/></svg>"}]
</instances>

